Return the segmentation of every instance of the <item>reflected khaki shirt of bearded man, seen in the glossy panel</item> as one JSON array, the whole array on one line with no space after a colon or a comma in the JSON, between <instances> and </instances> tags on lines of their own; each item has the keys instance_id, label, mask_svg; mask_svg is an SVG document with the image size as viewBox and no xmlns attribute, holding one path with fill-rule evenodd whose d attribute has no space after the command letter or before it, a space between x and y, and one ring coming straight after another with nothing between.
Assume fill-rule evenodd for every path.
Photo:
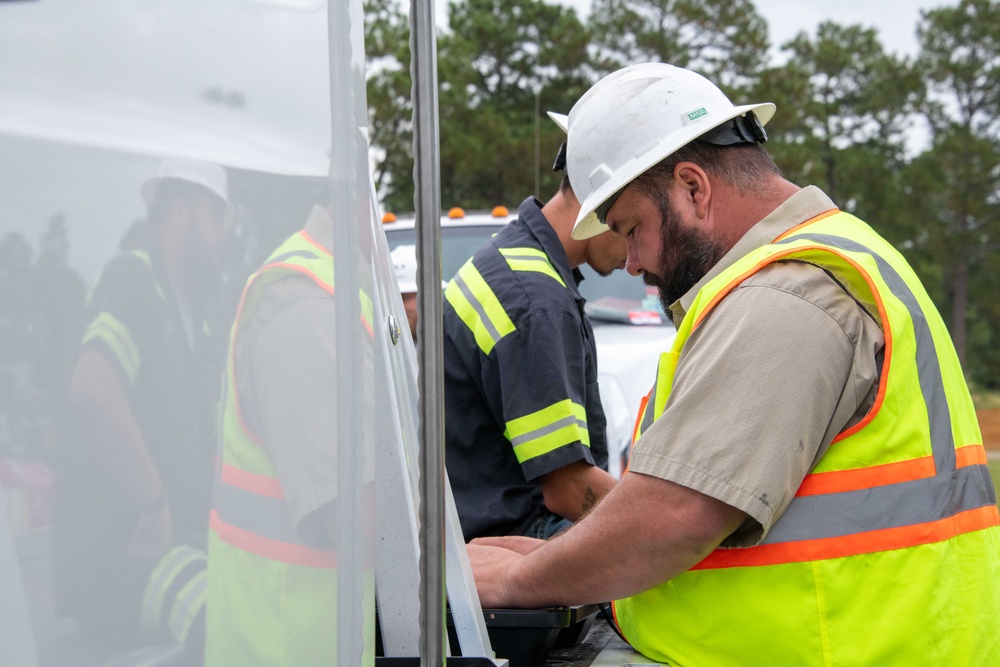
<instances>
[{"instance_id":1,"label":"reflected khaki shirt of bearded man, seen in the glossy panel","mask_svg":"<svg viewBox=\"0 0 1000 667\"><path fill-rule=\"evenodd\" d=\"M313 208L305 231L332 248L333 222L323 209ZM266 288L237 338L236 349L243 417L274 464L300 534L320 546L325 537L317 525L321 520L317 510L337 498L336 381L341 373L336 316L332 295L307 276L293 274ZM358 388L364 401L373 400L370 347L359 351L367 369L365 386ZM374 478L370 457L365 457L364 465L364 480L370 482Z\"/></svg>"}]
</instances>

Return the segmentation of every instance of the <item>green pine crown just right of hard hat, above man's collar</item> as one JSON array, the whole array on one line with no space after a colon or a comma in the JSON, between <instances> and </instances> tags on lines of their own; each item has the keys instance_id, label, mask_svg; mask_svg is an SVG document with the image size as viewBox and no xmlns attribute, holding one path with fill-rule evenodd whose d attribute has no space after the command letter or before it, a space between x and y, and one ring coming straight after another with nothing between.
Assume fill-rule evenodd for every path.
<instances>
[{"instance_id":1,"label":"green pine crown just right of hard hat, above man's collar","mask_svg":"<svg viewBox=\"0 0 1000 667\"><path fill-rule=\"evenodd\" d=\"M781 110L771 150L786 175L821 186L846 210L891 218L886 197L903 161L904 130L919 90L905 61L887 55L874 30L820 24L784 45L788 63L765 72L759 95ZM889 221L891 222L891 220Z\"/></svg>"}]
</instances>

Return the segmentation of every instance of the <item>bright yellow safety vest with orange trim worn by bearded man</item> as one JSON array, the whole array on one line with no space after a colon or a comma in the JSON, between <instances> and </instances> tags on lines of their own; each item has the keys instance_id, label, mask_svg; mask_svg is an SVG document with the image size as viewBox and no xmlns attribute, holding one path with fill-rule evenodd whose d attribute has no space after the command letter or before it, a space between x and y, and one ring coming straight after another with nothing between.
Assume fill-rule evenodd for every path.
<instances>
[{"instance_id":1,"label":"bright yellow safety vest with orange trim worn by bearded man","mask_svg":"<svg viewBox=\"0 0 1000 667\"><path fill-rule=\"evenodd\" d=\"M663 413L692 331L778 260L822 267L877 316L875 404L760 544L716 549L616 601L619 627L671 665L1000 665L1000 514L972 400L916 275L862 221L830 211L705 285L661 357L636 439Z\"/></svg>"}]
</instances>

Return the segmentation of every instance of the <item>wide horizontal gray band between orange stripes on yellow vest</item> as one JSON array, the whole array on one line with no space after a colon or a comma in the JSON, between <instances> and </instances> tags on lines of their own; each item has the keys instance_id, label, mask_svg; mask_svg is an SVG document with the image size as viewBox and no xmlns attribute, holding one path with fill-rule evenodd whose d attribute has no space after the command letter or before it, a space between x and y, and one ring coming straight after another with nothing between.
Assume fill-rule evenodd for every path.
<instances>
[{"instance_id":1,"label":"wide horizontal gray band between orange stripes on yellow vest","mask_svg":"<svg viewBox=\"0 0 1000 667\"><path fill-rule=\"evenodd\" d=\"M994 501L984 465L870 489L796 497L761 544L844 537L938 521Z\"/></svg>"}]
</instances>

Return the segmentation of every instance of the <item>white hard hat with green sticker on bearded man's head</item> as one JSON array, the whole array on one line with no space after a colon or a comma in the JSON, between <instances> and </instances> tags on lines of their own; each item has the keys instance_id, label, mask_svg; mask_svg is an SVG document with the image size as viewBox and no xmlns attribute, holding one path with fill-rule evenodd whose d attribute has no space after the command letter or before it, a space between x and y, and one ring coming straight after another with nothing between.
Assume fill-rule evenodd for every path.
<instances>
[{"instance_id":1,"label":"white hard hat with green sticker on bearded man's head","mask_svg":"<svg viewBox=\"0 0 1000 667\"><path fill-rule=\"evenodd\" d=\"M569 112L569 179L581 202L573 238L605 231L594 212L637 176L750 111L763 126L774 105L734 106L705 77L665 63L632 65L598 81Z\"/></svg>"}]
</instances>

